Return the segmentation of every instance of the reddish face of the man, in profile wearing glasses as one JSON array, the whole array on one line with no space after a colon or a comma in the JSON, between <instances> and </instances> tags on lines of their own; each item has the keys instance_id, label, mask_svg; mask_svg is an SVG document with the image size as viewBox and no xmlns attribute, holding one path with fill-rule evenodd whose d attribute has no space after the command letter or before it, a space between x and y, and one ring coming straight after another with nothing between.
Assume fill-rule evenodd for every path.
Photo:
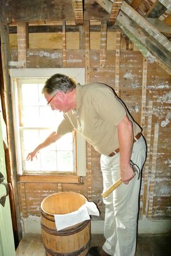
<instances>
[{"instance_id":1,"label":"reddish face of the man, in profile wearing glasses","mask_svg":"<svg viewBox=\"0 0 171 256\"><path fill-rule=\"evenodd\" d=\"M48 102L48 106L50 106L52 110L59 110L60 112L66 113L70 110L66 94L67 93L57 92L54 95L50 95L45 92L44 96Z\"/></svg>"}]
</instances>

